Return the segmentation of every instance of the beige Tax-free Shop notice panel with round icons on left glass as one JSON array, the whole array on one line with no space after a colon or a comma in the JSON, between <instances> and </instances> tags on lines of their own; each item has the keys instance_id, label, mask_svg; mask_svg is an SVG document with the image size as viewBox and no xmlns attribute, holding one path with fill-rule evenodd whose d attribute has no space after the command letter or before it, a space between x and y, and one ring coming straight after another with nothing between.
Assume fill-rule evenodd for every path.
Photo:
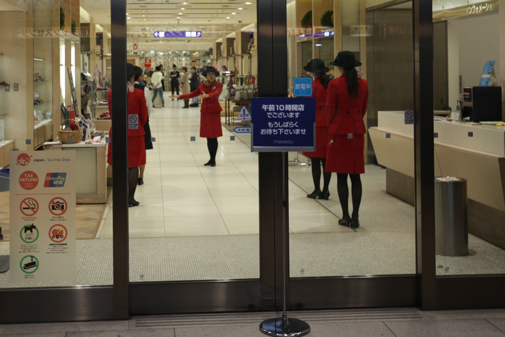
<instances>
[{"instance_id":1,"label":"beige Tax-free Shop notice panel with round icons on left glass","mask_svg":"<svg viewBox=\"0 0 505 337\"><path fill-rule=\"evenodd\" d=\"M75 280L75 151L10 156L11 282Z\"/></svg>"}]
</instances>

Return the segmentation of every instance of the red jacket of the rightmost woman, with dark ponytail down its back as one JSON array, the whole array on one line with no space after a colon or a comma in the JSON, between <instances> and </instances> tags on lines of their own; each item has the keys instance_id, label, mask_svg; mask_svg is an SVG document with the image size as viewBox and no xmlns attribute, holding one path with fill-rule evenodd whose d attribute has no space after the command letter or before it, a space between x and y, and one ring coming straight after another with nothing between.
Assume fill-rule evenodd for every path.
<instances>
[{"instance_id":1,"label":"red jacket of the rightmost woman, with dark ponytail down its back","mask_svg":"<svg viewBox=\"0 0 505 337\"><path fill-rule=\"evenodd\" d=\"M363 117L367 112L368 84L358 79L360 97L351 98L347 91L345 74L330 81L326 100L328 134L365 134L367 128Z\"/></svg>"}]
</instances>

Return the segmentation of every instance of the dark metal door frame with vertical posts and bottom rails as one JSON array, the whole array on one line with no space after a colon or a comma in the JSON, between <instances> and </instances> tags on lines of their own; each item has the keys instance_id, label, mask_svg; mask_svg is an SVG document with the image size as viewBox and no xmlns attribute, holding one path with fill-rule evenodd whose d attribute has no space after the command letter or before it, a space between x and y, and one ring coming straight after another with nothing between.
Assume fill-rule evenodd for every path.
<instances>
[{"instance_id":1,"label":"dark metal door frame with vertical posts and bottom rails","mask_svg":"<svg viewBox=\"0 0 505 337\"><path fill-rule=\"evenodd\" d=\"M260 94L262 97L285 97L285 1L258 0L257 6ZM500 308L505 303L502 287L505 275L435 276L431 6L428 0L413 1L417 274L291 278L287 293L291 309L420 305L431 310ZM120 112L126 111L126 2L111 0L111 15L112 105L114 111ZM126 119L114 118L112 124L116 130L115 142L126 145ZM114 148L113 160L115 181L126 182L126 146ZM125 230L128 224L127 188L126 183L118 183L113 191L114 285L1 289L0 298L9 305L0 306L0 323L127 319L131 314L280 308L281 167L280 154L259 155L260 279L129 283L128 231ZM289 242L286 244L289 263ZM26 303L31 305L26 306Z\"/></svg>"}]
</instances>

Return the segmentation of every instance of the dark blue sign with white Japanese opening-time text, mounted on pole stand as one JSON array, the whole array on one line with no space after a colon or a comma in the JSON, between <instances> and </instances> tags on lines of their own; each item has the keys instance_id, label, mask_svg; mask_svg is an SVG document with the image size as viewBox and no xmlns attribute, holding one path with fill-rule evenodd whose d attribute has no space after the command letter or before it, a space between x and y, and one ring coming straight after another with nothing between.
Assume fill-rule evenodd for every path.
<instances>
[{"instance_id":1,"label":"dark blue sign with white Japanese opening-time text, mounted on pole stand","mask_svg":"<svg viewBox=\"0 0 505 337\"><path fill-rule=\"evenodd\" d=\"M316 151L316 99L252 98L251 152Z\"/></svg>"}]
</instances>

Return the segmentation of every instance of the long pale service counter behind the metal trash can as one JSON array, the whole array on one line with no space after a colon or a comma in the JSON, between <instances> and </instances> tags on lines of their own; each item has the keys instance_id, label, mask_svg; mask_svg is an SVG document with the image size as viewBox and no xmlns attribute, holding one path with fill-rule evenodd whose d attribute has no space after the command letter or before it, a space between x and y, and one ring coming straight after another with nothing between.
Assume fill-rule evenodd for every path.
<instances>
[{"instance_id":1,"label":"long pale service counter behind the metal trash can","mask_svg":"<svg viewBox=\"0 0 505 337\"><path fill-rule=\"evenodd\" d=\"M505 129L434 121L435 176L468 180L468 228L505 249ZM386 167L387 192L415 203L414 125L403 112L379 111L369 128L377 161Z\"/></svg>"}]
</instances>

